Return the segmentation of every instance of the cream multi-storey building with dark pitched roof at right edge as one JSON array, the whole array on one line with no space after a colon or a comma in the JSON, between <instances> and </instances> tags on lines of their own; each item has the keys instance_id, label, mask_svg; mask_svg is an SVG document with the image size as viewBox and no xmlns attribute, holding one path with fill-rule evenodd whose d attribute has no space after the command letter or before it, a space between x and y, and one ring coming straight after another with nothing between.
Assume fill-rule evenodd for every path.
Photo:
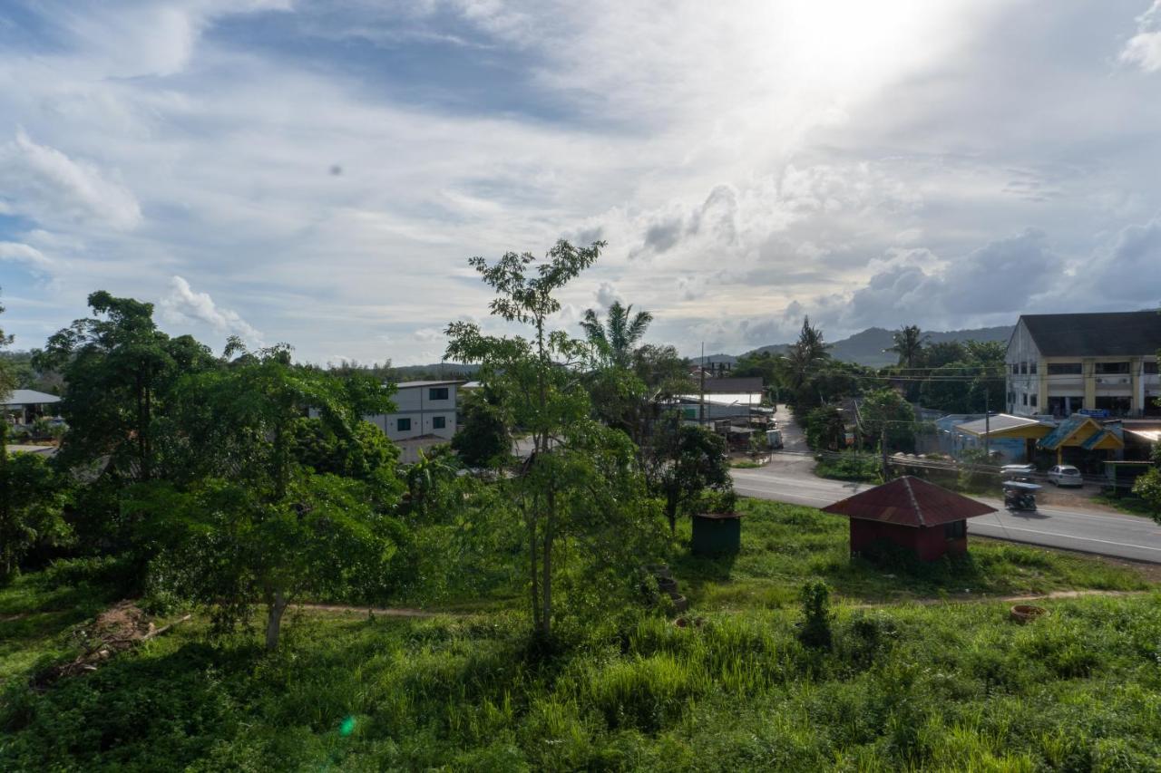
<instances>
[{"instance_id":1,"label":"cream multi-storey building with dark pitched roof at right edge","mask_svg":"<svg viewBox=\"0 0 1161 773\"><path fill-rule=\"evenodd\" d=\"M1008 413L1161 416L1161 313L1024 315L1008 340Z\"/></svg>"}]
</instances>

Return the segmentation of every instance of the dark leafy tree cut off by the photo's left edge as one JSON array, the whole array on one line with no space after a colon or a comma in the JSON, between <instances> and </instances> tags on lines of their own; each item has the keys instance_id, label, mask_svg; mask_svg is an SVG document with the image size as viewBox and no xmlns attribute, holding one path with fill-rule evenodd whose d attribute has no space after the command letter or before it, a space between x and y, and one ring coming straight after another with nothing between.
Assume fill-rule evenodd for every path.
<instances>
[{"instance_id":1,"label":"dark leafy tree cut off by the photo's left edge","mask_svg":"<svg viewBox=\"0 0 1161 773\"><path fill-rule=\"evenodd\" d=\"M39 454L9 457L7 433L8 424L0 421L0 583L31 549L64 544L70 536L67 482Z\"/></svg>"}]
</instances>

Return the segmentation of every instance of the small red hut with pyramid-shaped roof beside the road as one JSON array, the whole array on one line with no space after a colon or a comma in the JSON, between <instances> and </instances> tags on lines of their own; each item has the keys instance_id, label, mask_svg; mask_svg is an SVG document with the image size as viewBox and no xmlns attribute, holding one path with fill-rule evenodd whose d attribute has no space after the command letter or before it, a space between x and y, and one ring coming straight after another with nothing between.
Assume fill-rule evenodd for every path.
<instances>
[{"instance_id":1,"label":"small red hut with pyramid-shaped roof beside the road","mask_svg":"<svg viewBox=\"0 0 1161 773\"><path fill-rule=\"evenodd\" d=\"M967 519L996 512L983 503L907 475L859 492L824 513L851 519L851 555L886 540L935 561L945 554L967 552Z\"/></svg>"}]
</instances>

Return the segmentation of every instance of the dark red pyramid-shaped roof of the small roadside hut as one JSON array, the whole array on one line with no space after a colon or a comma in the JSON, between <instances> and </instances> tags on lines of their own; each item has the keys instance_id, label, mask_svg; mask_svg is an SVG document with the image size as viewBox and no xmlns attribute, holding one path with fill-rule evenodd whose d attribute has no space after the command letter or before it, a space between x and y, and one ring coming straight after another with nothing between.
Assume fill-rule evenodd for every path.
<instances>
[{"instance_id":1,"label":"dark red pyramid-shaped roof of the small roadside hut","mask_svg":"<svg viewBox=\"0 0 1161 773\"><path fill-rule=\"evenodd\" d=\"M914 528L942 526L996 512L982 501L904 475L822 508L824 513Z\"/></svg>"}]
</instances>

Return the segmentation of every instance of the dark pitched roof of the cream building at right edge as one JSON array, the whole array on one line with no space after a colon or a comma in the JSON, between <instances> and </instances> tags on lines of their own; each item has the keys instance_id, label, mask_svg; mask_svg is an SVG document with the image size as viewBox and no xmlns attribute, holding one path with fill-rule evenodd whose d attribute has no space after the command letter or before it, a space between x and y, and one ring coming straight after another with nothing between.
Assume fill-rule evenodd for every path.
<instances>
[{"instance_id":1,"label":"dark pitched roof of the cream building at right edge","mask_svg":"<svg viewBox=\"0 0 1161 773\"><path fill-rule=\"evenodd\" d=\"M1141 356L1161 349L1161 312L1023 315L1021 322L1046 357Z\"/></svg>"}]
</instances>

